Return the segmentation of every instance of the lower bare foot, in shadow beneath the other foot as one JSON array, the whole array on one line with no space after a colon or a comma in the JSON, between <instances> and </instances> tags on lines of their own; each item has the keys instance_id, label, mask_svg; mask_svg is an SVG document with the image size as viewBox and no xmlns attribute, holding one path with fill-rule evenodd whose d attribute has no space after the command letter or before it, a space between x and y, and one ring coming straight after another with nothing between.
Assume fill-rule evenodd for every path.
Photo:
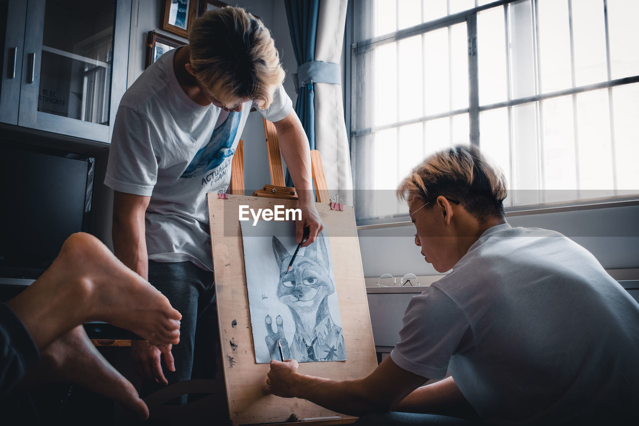
<instances>
[{"instance_id":1,"label":"lower bare foot, in shadow beneath the other foot","mask_svg":"<svg viewBox=\"0 0 639 426\"><path fill-rule=\"evenodd\" d=\"M51 343L42 352L40 363L27 371L20 387L54 382L77 384L128 407L141 420L149 417L149 409L134 386L95 349L82 326Z\"/></svg>"}]
</instances>

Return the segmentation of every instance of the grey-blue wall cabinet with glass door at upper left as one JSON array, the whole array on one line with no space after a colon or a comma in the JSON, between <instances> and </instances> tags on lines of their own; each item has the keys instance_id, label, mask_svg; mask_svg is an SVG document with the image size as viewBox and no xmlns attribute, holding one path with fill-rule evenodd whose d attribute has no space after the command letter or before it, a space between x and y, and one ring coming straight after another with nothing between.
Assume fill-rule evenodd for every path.
<instances>
[{"instance_id":1,"label":"grey-blue wall cabinet with glass door at upper left","mask_svg":"<svg viewBox=\"0 0 639 426\"><path fill-rule=\"evenodd\" d=\"M0 122L108 143L127 89L131 0L0 0Z\"/></svg>"}]
</instances>

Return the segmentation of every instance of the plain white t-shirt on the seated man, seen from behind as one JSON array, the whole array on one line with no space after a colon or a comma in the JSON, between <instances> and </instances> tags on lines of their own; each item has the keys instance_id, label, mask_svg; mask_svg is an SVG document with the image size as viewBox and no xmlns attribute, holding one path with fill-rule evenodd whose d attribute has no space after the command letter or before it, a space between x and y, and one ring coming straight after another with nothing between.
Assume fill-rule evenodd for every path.
<instances>
[{"instance_id":1,"label":"plain white t-shirt on the seated man, seen from behind","mask_svg":"<svg viewBox=\"0 0 639 426\"><path fill-rule=\"evenodd\" d=\"M560 233L489 228L403 321L393 361L449 370L483 420L605 419L639 400L639 304Z\"/></svg>"}]
</instances>

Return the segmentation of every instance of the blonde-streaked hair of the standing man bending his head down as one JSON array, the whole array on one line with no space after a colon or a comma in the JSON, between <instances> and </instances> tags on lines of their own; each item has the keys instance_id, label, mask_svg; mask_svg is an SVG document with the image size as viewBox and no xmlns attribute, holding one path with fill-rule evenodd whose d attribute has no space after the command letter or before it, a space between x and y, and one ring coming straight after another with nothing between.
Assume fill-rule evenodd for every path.
<instances>
[{"instance_id":1,"label":"blonde-streaked hair of the standing man bending his head down","mask_svg":"<svg viewBox=\"0 0 639 426\"><path fill-rule=\"evenodd\" d=\"M270 31L242 8L204 13L189 34L190 65L226 107L252 99L259 109L273 102L284 70Z\"/></svg>"}]
</instances>

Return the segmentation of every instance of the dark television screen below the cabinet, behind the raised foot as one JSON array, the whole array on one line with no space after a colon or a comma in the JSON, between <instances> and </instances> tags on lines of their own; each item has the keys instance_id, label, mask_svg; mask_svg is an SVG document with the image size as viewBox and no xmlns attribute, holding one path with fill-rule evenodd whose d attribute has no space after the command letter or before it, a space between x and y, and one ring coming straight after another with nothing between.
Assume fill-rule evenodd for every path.
<instances>
[{"instance_id":1,"label":"dark television screen below the cabinet, behind the raised foot","mask_svg":"<svg viewBox=\"0 0 639 426\"><path fill-rule=\"evenodd\" d=\"M89 230L95 159L0 145L0 278L35 279L66 238Z\"/></svg>"}]
</instances>

